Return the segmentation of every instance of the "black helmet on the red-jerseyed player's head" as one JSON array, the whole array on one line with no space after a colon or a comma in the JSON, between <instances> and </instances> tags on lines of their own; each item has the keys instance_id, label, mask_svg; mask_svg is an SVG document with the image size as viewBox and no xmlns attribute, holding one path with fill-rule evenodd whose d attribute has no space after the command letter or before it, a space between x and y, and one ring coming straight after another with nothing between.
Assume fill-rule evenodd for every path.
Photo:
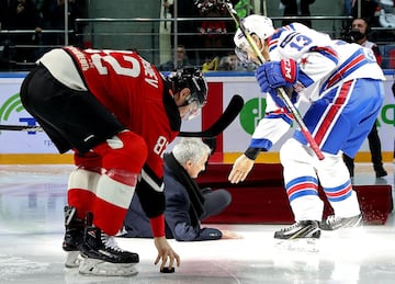
<instances>
[{"instance_id":1,"label":"black helmet on the red-jerseyed player's head","mask_svg":"<svg viewBox=\"0 0 395 284\"><path fill-rule=\"evenodd\" d=\"M191 90L188 104L194 103L198 109L202 109L207 102L207 82L199 68L184 67L176 69L169 73L168 79L173 82L174 92L179 92L183 88Z\"/></svg>"}]
</instances>

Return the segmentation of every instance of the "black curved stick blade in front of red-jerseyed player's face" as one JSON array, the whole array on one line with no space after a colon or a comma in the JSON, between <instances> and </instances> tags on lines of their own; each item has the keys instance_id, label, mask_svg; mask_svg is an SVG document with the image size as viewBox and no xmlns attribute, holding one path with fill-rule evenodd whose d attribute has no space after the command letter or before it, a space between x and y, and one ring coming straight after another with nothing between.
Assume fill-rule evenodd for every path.
<instances>
[{"instance_id":1,"label":"black curved stick blade in front of red-jerseyed player's face","mask_svg":"<svg viewBox=\"0 0 395 284\"><path fill-rule=\"evenodd\" d=\"M226 106L224 113L219 118L207 129L203 132L180 132L179 136L182 137L202 137L214 138L225 130L226 127L237 117L244 106L244 100L239 94L235 94L229 104Z\"/></svg>"}]
</instances>

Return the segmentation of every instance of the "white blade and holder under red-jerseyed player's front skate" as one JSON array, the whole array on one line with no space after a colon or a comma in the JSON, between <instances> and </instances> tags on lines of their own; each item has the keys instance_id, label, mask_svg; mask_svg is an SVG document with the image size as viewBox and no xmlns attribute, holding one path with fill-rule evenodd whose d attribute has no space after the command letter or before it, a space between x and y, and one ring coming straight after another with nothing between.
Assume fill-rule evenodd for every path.
<instances>
[{"instance_id":1,"label":"white blade and holder under red-jerseyed player's front skate","mask_svg":"<svg viewBox=\"0 0 395 284\"><path fill-rule=\"evenodd\" d=\"M79 273L100 276L133 276L138 273L136 263L111 263L97 259L82 258Z\"/></svg>"}]
</instances>

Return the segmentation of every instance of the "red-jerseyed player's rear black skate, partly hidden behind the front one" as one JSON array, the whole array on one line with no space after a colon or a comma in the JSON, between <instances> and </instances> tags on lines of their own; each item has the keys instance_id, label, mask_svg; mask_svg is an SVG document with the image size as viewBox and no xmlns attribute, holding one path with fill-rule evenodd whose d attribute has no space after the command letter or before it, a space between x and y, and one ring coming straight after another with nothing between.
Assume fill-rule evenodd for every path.
<instances>
[{"instance_id":1,"label":"red-jerseyed player's rear black skate, partly hidden behind the front one","mask_svg":"<svg viewBox=\"0 0 395 284\"><path fill-rule=\"evenodd\" d=\"M63 249L67 252L66 268L79 266L79 247L83 241L84 221L77 218L77 211L75 207L65 206L65 238L63 241Z\"/></svg>"}]
</instances>

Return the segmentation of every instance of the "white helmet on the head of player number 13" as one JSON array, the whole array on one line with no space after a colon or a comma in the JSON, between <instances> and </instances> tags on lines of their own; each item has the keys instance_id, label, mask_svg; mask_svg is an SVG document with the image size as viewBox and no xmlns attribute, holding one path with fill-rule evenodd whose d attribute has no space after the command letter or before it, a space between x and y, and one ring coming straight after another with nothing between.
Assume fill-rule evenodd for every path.
<instances>
[{"instance_id":1,"label":"white helmet on the head of player number 13","mask_svg":"<svg viewBox=\"0 0 395 284\"><path fill-rule=\"evenodd\" d=\"M271 19L264 15L251 14L242 19L242 24L245 25L249 34L256 34L262 41L267 39L274 33L273 22ZM234 42L236 47L245 49L249 47L249 44L244 36L240 29L237 29Z\"/></svg>"}]
</instances>

